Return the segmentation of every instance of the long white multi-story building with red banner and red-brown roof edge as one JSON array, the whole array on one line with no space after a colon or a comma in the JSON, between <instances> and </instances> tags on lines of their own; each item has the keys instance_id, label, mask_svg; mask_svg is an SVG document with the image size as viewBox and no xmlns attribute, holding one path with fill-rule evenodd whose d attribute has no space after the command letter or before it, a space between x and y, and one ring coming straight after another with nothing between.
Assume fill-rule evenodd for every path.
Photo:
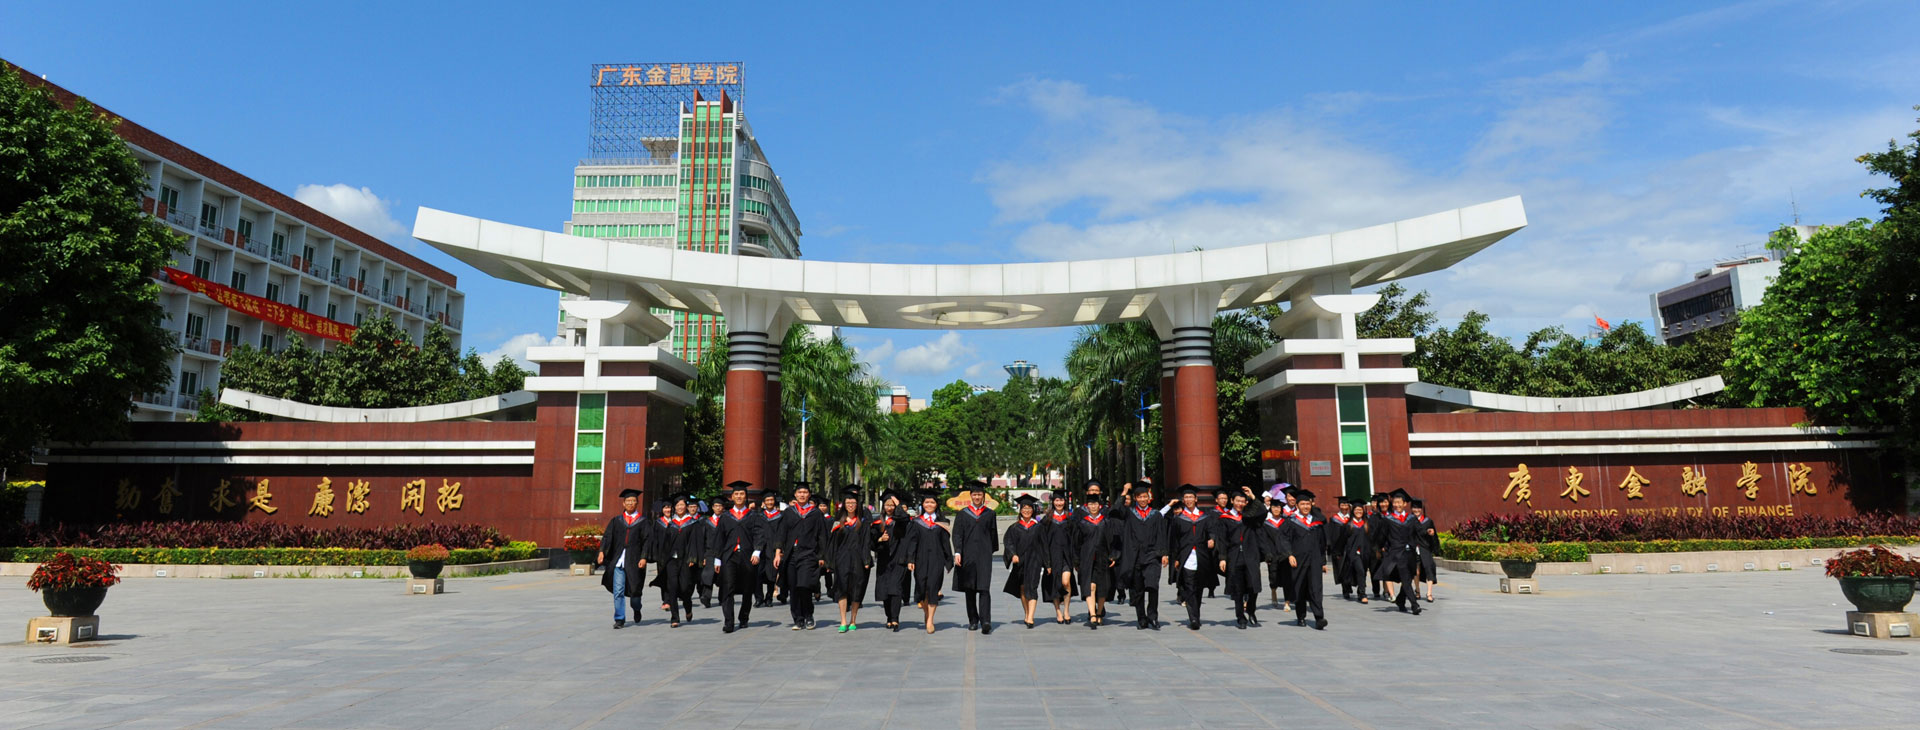
<instances>
[{"instance_id":1,"label":"long white multi-story building with red banner and red-brown roof edge","mask_svg":"<svg viewBox=\"0 0 1920 730\"><path fill-rule=\"evenodd\" d=\"M58 85L21 77L75 102ZM163 325L180 338L173 384L136 398L132 419L192 419L200 392L219 390L221 363L240 344L280 350L300 338L330 350L349 327L386 313L413 342L438 321L461 346L467 304L451 273L131 119L115 133L146 171L142 209L184 238L171 271L156 273Z\"/></svg>"}]
</instances>

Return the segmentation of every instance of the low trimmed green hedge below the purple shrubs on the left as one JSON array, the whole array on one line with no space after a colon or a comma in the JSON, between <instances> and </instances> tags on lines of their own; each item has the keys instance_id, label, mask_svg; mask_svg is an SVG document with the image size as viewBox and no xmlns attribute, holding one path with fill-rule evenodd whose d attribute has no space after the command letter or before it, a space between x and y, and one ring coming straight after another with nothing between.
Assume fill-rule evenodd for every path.
<instances>
[{"instance_id":1,"label":"low trimmed green hedge below the purple shrubs on the left","mask_svg":"<svg viewBox=\"0 0 1920 730\"><path fill-rule=\"evenodd\" d=\"M54 553L96 557L121 565L407 565L405 549L351 548L0 548L0 563L46 563ZM540 546L453 549L447 565L526 561Z\"/></svg>"}]
</instances>

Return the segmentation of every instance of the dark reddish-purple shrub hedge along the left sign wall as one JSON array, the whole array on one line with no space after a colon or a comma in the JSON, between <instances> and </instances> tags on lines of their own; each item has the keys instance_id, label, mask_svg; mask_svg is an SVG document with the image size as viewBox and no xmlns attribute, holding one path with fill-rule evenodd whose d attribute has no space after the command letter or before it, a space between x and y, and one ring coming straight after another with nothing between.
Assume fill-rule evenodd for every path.
<instances>
[{"instance_id":1,"label":"dark reddish-purple shrub hedge along the left sign wall","mask_svg":"<svg viewBox=\"0 0 1920 730\"><path fill-rule=\"evenodd\" d=\"M342 548L407 549L505 546L503 532L486 524L388 524L311 528L284 523L111 523L92 526L13 523L0 546L17 548ZM186 565L186 563L182 563Z\"/></svg>"}]
</instances>

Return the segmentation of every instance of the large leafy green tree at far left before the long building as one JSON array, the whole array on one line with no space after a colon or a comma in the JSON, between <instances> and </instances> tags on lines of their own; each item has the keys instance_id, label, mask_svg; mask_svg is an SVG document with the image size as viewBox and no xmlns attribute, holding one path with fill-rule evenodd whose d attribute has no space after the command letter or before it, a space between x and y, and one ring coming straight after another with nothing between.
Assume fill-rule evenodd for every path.
<instances>
[{"instance_id":1,"label":"large leafy green tree at far left before the long building","mask_svg":"<svg viewBox=\"0 0 1920 730\"><path fill-rule=\"evenodd\" d=\"M140 211L146 175L115 123L0 63L0 465L117 434L173 378L152 277L180 242Z\"/></svg>"}]
</instances>

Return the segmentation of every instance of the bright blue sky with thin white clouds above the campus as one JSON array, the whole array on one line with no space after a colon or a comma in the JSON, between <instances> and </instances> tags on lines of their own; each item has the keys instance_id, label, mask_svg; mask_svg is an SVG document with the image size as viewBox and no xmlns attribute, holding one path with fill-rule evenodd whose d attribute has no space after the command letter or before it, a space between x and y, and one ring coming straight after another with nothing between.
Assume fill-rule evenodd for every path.
<instances>
[{"instance_id":1,"label":"bright blue sky with thin white clouds above the campus","mask_svg":"<svg viewBox=\"0 0 1920 730\"><path fill-rule=\"evenodd\" d=\"M818 259L1221 248L1521 194L1526 231L1407 282L1507 334L1645 319L1795 204L1872 215L1853 158L1916 127L1910 4L1336 6L10 4L0 58L457 273L495 353L557 296L405 232L417 206L559 229L601 61L745 61ZM1071 330L847 336L925 396L1062 375Z\"/></svg>"}]
</instances>

